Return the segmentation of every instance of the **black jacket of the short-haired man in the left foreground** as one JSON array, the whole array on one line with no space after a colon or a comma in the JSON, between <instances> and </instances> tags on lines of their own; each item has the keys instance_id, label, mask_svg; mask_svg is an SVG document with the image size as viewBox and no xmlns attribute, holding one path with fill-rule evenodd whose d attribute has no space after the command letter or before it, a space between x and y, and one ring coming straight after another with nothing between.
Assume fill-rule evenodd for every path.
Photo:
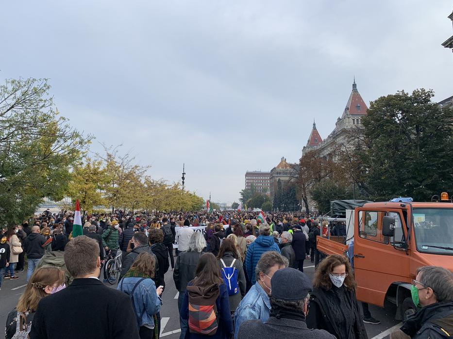
<instances>
[{"instance_id":1,"label":"black jacket of the short-haired man in the left foreground","mask_svg":"<svg viewBox=\"0 0 453 339\"><path fill-rule=\"evenodd\" d=\"M56 314L64 314L64 321L55 321ZM40 300L30 338L138 339L139 335L131 297L98 279L84 278Z\"/></svg>"}]
</instances>

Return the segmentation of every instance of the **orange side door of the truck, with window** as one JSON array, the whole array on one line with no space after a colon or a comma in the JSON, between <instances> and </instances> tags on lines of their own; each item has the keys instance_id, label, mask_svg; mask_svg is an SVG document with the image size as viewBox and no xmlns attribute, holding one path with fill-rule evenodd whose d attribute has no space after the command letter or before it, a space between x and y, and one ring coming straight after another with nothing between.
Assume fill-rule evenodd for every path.
<instances>
[{"instance_id":1,"label":"orange side door of the truck, with window","mask_svg":"<svg viewBox=\"0 0 453 339\"><path fill-rule=\"evenodd\" d=\"M409 256L393 247L382 235L382 219L394 216L405 227L399 211L358 210L355 218L358 232L354 236L354 274L357 280L357 299L383 307L388 287L405 281L409 274ZM396 222L396 224L398 224ZM402 234L398 231L396 234ZM399 240L399 239L397 239Z\"/></svg>"}]
</instances>

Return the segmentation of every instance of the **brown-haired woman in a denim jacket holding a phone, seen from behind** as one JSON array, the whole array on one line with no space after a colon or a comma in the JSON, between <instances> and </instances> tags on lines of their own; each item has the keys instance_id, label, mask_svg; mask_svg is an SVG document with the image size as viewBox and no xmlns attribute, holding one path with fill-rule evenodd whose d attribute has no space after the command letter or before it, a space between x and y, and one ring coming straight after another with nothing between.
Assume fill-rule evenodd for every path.
<instances>
[{"instance_id":1,"label":"brown-haired woman in a denim jacket holding a phone, seen from behind","mask_svg":"<svg viewBox=\"0 0 453 339\"><path fill-rule=\"evenodd\" d=\"M140 253L117 287L132 298L140 339L159 338L156 314L162 304L162 286L156 288L152 280L155 264L155 258L149 253Z\"/></svg>"}]
</instances>

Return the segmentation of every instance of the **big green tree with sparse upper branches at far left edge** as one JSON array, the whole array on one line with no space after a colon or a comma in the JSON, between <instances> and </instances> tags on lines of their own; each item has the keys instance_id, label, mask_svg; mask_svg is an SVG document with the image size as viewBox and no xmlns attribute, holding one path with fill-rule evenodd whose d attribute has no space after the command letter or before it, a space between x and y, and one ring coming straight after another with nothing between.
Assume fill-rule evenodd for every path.
<instances>
[{"instance_id":1,"label":"big green tree with sparse upper branches at far left edge","mask_svg":"<svg viewBox=\"0 0 453 339\"><path fill-rule=\"evenodd\" d=\"M92 139L59 115L49 93L47 79L0 86L0 225L33 215L43 197L61 200Z\"/></svg>"}]
</instances>

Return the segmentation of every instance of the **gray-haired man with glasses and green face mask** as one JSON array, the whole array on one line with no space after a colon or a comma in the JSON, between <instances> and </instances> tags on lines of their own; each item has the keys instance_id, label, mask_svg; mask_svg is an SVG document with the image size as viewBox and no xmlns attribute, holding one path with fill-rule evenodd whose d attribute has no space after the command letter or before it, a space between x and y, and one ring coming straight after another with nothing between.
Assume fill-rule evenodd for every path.
<instances>
[{"instance_id":1,"label":"gray-haired man with glasses and green face mask","mask_svg":"<svg viewBox=\"0 0 453 339\"><path fill-rule=\"evenodd\" d=\"M453 273L443 267L422 266L412 280L412 301L421 307L392 339L453 337Z\"/></svg>"}]
</instances>

